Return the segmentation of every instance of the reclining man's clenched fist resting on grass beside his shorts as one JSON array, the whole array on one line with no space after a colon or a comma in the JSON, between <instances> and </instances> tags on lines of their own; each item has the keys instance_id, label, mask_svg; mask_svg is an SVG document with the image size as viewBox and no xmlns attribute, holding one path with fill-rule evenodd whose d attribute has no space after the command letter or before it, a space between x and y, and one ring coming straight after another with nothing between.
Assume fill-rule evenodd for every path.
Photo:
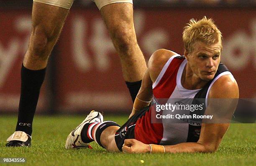
<instances>
[{"instance_id":1,"label":"reclining man's clenched fist resting on grass beside his shorts","mask_svg":"<svg viewBox=\"0 0 256 166\"><path fill-rule=\"evenodd\" d=\"M124 153L147 153L150 146L136 139L126 139L122 150Z\"/></svg>"}]
</instances>

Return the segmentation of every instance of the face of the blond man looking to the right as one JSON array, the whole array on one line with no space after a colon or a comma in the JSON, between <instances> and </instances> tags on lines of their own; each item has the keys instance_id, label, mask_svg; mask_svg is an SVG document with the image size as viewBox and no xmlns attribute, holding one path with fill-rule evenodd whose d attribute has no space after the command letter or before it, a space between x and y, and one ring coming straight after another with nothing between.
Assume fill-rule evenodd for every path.
<instances>
[{"instance_id":1,"label":"face of the blond man looking to the right","mask_svg":"<svg viewBox=\"0 0 256 166\"><path fill-rule=\"evenodd\" d=\"M220 43L207 45L196 41L192 53L187 54L188 64L193 72L202 80L213 79L220 64Z\"/></svg>"}]
</instances>

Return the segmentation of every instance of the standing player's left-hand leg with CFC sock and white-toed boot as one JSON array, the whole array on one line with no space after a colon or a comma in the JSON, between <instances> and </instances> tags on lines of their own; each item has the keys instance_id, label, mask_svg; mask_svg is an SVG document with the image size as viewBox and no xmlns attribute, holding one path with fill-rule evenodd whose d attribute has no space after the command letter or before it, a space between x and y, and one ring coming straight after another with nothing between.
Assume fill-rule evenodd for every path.
<instances>
[{"instance_id":1,"label":"standing player's left-hand leg with CFC sock and white-toed boot","mask_svg":"<svg viewBox=\"0 0 256 166\"><path fill-rule=\"evenodd\" d=\"M46 1L52 0L44 0ZM73 0L69 1L72 5ZM47 61L69 13L69 8L33 3L32 32L21 67L18 122L15 133L8 138L9 142L6 146L30 146L33 117L44 81Z\"/></svg>"}]
</instances>

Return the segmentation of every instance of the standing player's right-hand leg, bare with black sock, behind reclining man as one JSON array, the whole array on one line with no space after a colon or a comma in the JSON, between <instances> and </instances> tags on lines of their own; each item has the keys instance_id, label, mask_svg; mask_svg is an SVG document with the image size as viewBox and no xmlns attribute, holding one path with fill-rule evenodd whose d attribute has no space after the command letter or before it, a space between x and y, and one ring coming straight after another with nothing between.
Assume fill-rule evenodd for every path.
<instances>
[{"instance_id":1,"label":"standing player's right-hand leg, bare with black sock, behind reclining man","mask_svg":"<svg viewBox=\"0 0 256 166\"><path fill-rule=\"evenodd\" d=\"M120 56L123 77L134 102L147 66L136 39L132 0L95 0L95 3Z\"/></svg>"}]
</instances>

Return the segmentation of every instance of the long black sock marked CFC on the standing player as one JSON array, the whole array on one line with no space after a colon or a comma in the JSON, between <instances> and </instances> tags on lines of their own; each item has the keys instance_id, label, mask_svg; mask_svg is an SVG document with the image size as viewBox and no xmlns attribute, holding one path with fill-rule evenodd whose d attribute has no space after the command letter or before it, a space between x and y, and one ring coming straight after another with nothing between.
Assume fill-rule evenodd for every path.
<instances>
[{"instance_id":1,"label":"long black sock marked CFC on the standing player","mask_svg":"<svg viewBox=\"0 0 256 166\"><path fill-rule=\"evenodd\" d=\"M21 91L18 110L18 122L16 131L24 131L28 135L32 134L33 117L40 93L41 85L44 82L45 69L30 70L21 67Z\"/></svg>"}]
</instances>

